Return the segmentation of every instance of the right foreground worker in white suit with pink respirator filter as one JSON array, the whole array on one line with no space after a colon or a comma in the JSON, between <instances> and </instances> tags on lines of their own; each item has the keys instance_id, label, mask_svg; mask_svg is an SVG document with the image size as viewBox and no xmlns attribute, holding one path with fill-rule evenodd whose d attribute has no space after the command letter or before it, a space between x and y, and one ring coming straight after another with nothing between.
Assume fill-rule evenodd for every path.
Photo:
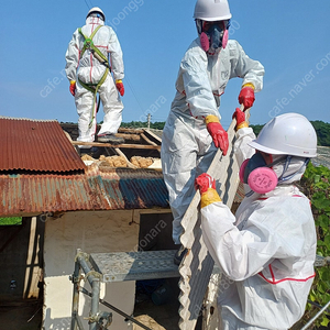
<instances>
[{"instance_id":1,"label":"right foreground worker in white suit with pink respirator filter","mask_svg":"<svg viewBox=\"0 0 330 330\"><path fill-rule=\"evenodd\" d=\"M317 155L317 135L304 116L286 113L272 119L255 140L244 112L237 109L234 117L245 188L235 216L209 175L196 179L202 238L222 272L219 326L288 329L304 315L315 277L315 221L310 201L294 183Z\"/></svg>"}]
</instances>

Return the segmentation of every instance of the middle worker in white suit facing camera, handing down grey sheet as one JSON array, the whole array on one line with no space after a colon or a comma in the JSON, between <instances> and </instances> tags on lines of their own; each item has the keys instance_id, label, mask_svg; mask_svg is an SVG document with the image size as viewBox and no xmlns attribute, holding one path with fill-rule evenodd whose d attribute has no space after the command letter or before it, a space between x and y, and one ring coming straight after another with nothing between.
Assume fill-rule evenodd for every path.
<instances>
[{"instance_id":1,"label":"middle worker in white suit facing camera, handing down grey sheet","mask_svg":"<svg viewBox=\"0 0 330 330\"><path fill-rule=\"evenodd\" d=\"M180 243L180 221L195 194L195 178L207 170L218 147L227 154L228 135L218 111L220 96L229 79L240 77L239 101L251 108L264 76L260 62L249 58L237 41L228 41L231 13L227 0L197 0L194 18L199 36L182 59L177 92L162 136L162 168L176 244Z\"/></svg>"}]
</instances>

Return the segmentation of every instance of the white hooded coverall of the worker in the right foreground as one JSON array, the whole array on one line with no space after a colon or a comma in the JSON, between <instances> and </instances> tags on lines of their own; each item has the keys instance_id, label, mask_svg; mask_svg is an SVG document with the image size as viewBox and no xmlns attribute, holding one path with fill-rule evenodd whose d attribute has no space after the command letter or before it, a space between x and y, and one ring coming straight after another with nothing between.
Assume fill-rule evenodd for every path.
<instances>
[{"instance_id":1,"label":"white hooded coverall of the worker in the right foreground","mask_svg":"<svg viewBox=\"0 0 330 330\"><path fill-rule=\"evenodd\" d=\"M248 143L255 136L251 128L237 136L241 165L254 154ZM288 172L300 166L293 163ZM222 272L220 329L288 329L304 315L317 238L310 202L292 184L301 175L271 193L245 197L235 217L221 201L201 209L202 237Z\"/></svg>"}]
</instances>

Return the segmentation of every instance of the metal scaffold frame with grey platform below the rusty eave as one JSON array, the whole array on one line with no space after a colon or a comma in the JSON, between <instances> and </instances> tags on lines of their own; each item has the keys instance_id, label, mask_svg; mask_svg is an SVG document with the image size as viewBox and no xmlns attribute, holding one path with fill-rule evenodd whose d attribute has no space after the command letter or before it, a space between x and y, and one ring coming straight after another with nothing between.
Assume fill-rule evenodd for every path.
<instances>
[{"instance_id":1,"label":"metal scaffold frame with grey platform below the rusty eave","mask_svg":"<svg viewBox=\"0 0 330 330\"><path fill-rule=\"evenodd\" d=\"M125 320L136 323L142 329L151 330L133 317L100 299L100 284L178 277L178 267L173 263L174 254L175 251L173 250L87 254L78 249L75 271L70 277L74 284L70 330L85 330L78 315L80 293L91 298L90 314L87 318L89 330L108 329L111 324L112 314L100 311L100 304L121 315ZM80 282L84 279L90 284L91 292L80 286Z\"/></svg>"}]
</instances>

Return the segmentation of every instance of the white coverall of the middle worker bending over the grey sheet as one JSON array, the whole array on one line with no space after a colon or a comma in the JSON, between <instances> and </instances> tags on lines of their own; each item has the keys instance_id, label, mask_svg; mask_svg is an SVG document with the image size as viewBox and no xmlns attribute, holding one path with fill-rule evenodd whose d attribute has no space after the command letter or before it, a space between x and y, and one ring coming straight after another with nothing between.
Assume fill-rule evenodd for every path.
<instances>
[{"instance_id":1,"label":"white coverall of the middle worker bending over the grey sheet","mask_svg":"<svg viewBox=\"0 0 330 330\"><path fill-rule=\"evenodd\" d=\"M196 38L180 63L176 96L162 136L162 168L174 217L173 239L179 244L180 221L195 195L194 180L207 172L217 152L205 118L220 113L220 96L229 79L243 78L255 91L263 87L264 67L245 55L237 41L207 55Z\"/></svg>"}]
</instances>

